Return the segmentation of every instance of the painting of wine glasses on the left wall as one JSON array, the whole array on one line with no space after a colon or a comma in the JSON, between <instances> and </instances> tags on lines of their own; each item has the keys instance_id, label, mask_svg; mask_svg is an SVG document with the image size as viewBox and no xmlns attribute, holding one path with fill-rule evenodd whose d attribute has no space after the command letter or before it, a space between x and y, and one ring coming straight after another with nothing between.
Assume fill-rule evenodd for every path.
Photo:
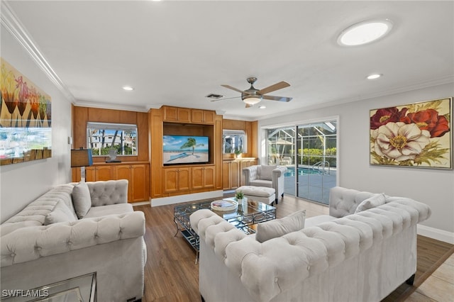
<instances>
[{"instance_id":1,"label":"painting of wine glasses on the left wall","mask_svg":"<svg viewBox=\"0 0 454 302\"><path fill-rule=\"evenodd\" d=\"M0 58L0 165L52 156L50 96Z\"/></svg>"}]
</instances>

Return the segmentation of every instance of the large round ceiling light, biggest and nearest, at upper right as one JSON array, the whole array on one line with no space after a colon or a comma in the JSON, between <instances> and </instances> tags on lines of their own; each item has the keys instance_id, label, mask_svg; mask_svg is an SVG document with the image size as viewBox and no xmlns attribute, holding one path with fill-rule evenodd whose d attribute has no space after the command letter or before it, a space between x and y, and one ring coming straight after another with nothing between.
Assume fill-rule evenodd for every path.
<instances>
[{"instance_id":1,"label":"large round ceiling light, biggest and nearest, at upper right","mask_svg":"<svg viewBox=\"0 0 454 302\"><path fill-rule=\"evenodd\" d=\"M353 24L342 30L338 44L342 46L357 46L371 43L389 33L392 22L389 19L373 19Z\"/></svg>"}]
</instances>

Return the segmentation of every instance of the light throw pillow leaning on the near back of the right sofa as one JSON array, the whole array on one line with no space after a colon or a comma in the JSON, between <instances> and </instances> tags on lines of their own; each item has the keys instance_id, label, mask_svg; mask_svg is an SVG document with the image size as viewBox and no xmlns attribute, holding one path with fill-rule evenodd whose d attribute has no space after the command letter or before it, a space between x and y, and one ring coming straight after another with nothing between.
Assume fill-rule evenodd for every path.
<instances>
[{"instance_id":1,"label":"light throw pillow leaning on the near back of the right sofa","mask_svg":"<svg viewBox=\"0 0 454 302\"><path fill-rule=\"evenodd\" d=\"M275 237L281 237L304 228L306 210L297 211L284 218L270 220L257 225L255 239L258 242L265 242Z\"/></svg>"}]
</instances>

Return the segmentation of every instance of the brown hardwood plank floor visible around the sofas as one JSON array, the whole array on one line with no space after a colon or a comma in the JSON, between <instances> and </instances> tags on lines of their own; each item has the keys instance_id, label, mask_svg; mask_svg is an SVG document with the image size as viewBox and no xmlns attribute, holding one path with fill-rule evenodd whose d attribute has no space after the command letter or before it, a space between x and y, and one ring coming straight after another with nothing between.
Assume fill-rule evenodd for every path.
<instances>
[{"instance_id":1,"label":"brown hardwood plank floor visible around the sofas","mask_svg":"<svg viewBox=\"0 0 454 302\"><path fill-rule=\"evenodd\" d=\"M173 208L168 206L135 206L143 211L146 219L145 242L148 260L145 265L145 293L142 301L201 301L199 294L199 267L196 254L182 235L176 233ZM328 214L328 207L292 196L284 196L276 210L277 218L299 209L306 209L306 216ZM415 286L420 286L449 255L453 245L418 236L418 264ZM407 301L415 286L402 285L384 301ZM424 293L414 293L424 294ZM410 297L414 297L413 295ZM411 300L409 298L408 301ZM420 300L426 301L426 300Z\"/></svg>"}]
</instances>

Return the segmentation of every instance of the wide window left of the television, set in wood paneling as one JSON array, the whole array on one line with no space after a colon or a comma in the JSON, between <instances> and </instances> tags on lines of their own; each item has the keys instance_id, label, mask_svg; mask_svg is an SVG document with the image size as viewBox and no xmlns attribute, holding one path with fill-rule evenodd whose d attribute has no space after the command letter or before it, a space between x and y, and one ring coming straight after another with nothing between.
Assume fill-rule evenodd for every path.
<instances>
[{"instance_id":1,"label":"wide window left of the television, set in wood paneling","mask_svg":"<svg viewBox=\"0 0 454 302\"><path fill-rule=\"evenodd\" d=\"M88 122L87 146L94 156L137 155L137 125Z\"/></svg>"}]
</instances>

